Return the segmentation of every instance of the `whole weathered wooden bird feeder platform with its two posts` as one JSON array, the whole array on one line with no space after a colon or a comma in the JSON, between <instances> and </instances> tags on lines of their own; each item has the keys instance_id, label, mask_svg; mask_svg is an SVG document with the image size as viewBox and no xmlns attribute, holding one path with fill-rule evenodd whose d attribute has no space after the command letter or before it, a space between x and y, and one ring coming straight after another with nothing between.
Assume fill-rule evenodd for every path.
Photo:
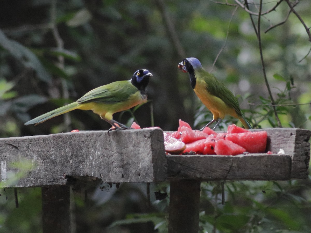
<instances>
[{"instance_id":1,"label":"whole weathered wooden bird feeder platform with its two posts","mask_svg":"<svg viewBox=\"0 0 311 233\"><path fill-rule=\"evenodd\" d=\"M169 180L169 233L197 233L201 181L308 177L311 131L265 131L270 155L166 155L160 129L2 138L0 179L5 181L8 172L18 172L12 162L33 163L33 169L8 188L42 187L43 233L72 232L72 185ZM280 149L285 154L277 154Z\"/></svg>"}]
</instances>

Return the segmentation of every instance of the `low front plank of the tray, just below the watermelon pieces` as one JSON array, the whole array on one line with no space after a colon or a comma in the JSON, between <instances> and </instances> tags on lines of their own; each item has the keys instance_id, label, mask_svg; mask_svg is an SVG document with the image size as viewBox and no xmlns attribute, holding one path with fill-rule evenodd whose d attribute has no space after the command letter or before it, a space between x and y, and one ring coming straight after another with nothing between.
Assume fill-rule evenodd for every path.
<instances>
[{"instance_id":1,"label":"low front plank of the tray, just below the watermelon pieces","mask_svg":"<svg viewBox=\"0 0 311 233\"><path fill-rule=\"evenodd\" d=\"M291 156L169 155L169 180L289 180Z\"/></svg>"}]
</instances>

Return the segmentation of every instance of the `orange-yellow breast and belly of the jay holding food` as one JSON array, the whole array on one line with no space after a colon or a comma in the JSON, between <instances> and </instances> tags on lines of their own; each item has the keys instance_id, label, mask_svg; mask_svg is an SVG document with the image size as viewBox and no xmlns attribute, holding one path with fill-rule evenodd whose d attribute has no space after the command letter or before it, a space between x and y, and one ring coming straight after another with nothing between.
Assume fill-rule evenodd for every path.
<instances>
[{"instance_id":1,"label":"orange-yellow breast and belly of the jay holding food","mask_svg":"<svg viewBox=\"0 0 311 233\"><path fill-rule=\"evenodd\" d=\"M219 97L212 95L207 88L204 80L197 79L194 87L194 92L202 101L202 103L211 111L213 119L223 119L225 115L238 117L234 108L226 104Z\"/></svg>"}]
</instances>

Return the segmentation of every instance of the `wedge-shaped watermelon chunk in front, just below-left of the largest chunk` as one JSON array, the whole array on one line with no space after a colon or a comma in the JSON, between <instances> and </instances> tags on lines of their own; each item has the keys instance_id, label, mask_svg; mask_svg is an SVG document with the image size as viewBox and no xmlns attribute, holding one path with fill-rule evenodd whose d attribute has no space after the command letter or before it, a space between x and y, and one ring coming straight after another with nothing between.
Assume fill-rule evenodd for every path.
<instances>
[{"instance_id":1,"label":"wedge-shaped watermelon chunk in front, just below-left of the largest chunk","mask_svg":"<svg viewBox=\"0 0 311 233\"><path fill-rule=\"evenodd\" d=\"M245 152L246 149L231 141L219 139L215 145L217 155L237 155Z\"/></svg>"}]
</instances>

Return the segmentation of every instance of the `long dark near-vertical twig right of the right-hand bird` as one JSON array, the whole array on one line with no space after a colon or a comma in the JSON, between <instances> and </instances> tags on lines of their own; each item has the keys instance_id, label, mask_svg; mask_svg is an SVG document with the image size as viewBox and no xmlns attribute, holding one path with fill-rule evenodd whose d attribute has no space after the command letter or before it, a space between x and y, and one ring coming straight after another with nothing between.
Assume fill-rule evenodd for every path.
<instances>
[{"instance_id":1,"label":"long dark near-vertical twig right of the right-hand bird","mask_svg":"<svg viewBox=\"0 0 311 233\"><path fill-rule=\"evenodd\" d=\"M270 99L271 99L271 103L272 105L275 105L275 101L274 101L274 98L272 96L272 93L271 93L271 89L270 89L270 85L268 83L268 79L267 79L267 75L266 75L266 68L265 68L265 62L263 61L263 55L262 55L262 44L261 44L261 35L260 35L260 22L261 22L261 10L262 10L262 0L260 0L260 3L259 3L259 16L258 16L258 25L257 25L257 32L258 32L258 44L259 44L259 52L260 52L260 59L261 59L261 64L262 64L262 72L263 72L263 77L265 79L265 83L266 83L266 86L267 86L267 89L268 89L268 92L269 92L269 95L270 95ZM277 122L277 125L278 127L282 127L281 125L281 121L277 115L277 111L276 111L276 107L275 106L272 106L273 108L273 111L274 111L274 115L275 115L275 118L276 118L276 122Z\"/></svg>"}]
</instances>

